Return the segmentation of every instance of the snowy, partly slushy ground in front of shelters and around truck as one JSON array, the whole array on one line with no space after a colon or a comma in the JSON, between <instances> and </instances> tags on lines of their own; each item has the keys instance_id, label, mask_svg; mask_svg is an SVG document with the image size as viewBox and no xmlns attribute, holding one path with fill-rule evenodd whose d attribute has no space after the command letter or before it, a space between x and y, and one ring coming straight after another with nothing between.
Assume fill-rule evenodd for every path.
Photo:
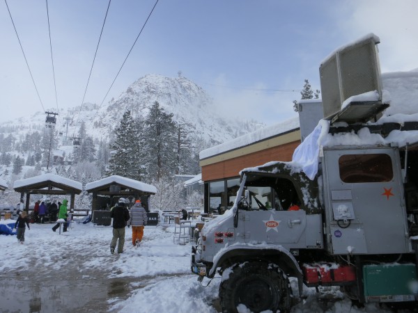
<instances>
[{"instance_id":1,"label":"snowy, partly slushy ground in front of shelters and around truck","mask_svg":"<svg viewBox=\"0 0 418 313\"><path fill-rule=\"evenodd\" d=\"M191 248L173 244L173 225L147 226L139 248L126 228L121 255L109 252L111 227L74 223L60 235L52 226L31 224L24 245L0 235L0 312L219 312L220 279L197 282ZM305 288L303 298L293 313L391 312L357 308L331 288Z\"/></svg>"}]
</instances>

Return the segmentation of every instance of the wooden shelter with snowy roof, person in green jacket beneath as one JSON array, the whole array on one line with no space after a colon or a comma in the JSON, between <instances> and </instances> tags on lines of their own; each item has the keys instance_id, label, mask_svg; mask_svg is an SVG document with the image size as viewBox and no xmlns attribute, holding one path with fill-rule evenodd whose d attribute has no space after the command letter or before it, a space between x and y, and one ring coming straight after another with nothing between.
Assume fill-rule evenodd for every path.
<instances>
[{"instance_id":1,"label":"wooden shelter with snowy roof, person in green jacket beneath","mask_svg":"<svg viewBox=\"0 0 418 313\"><path fill-rule=\"evenodd\" d=\"M20 193L21 202L26 193L25 210L29 210L31 194L38 195L70 195L70 209L74 209L75 195L82 193L82 184L74 180L54 174L44 174L36 177L20 179L13 189Z\"/></svg>"}]
</instances>

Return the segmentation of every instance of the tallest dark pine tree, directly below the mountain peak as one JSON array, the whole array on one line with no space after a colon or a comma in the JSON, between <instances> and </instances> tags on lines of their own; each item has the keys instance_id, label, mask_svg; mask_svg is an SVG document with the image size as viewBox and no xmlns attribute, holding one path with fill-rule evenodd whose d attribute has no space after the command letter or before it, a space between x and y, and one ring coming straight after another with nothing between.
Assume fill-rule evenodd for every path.
<instances>
[{"instance_id":1,"label":"tallest dark pine tree, directly below the mountain peak","mask_svg":"<svg viewBox=\"0 0 418 313\"><path fill-rule=\"evenodd\" d=\"M141 134L141 160L146 178L160 179L176 172L177 129L173 114L154 102L144 120Z\"/></svg>"}]
</instances>

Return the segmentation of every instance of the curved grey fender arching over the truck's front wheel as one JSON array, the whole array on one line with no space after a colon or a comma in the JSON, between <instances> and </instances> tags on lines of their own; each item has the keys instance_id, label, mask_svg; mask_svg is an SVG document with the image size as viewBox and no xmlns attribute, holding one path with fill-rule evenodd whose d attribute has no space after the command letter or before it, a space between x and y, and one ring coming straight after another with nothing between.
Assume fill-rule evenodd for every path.
<instances>
[{"instance_id":1,"label":"curved grey fender arching over the truck's front wheel","mask_svg":"<svg viewBox=\"0 0 418 313\"><path fill-rule=\"evenodd\" d=\"M286 275L297 278L299 295L302 296L303 273L295 257L283 246L269 245L256 246L245 243L235 243L233 246L219 250L213 257L213 266L210 268L208 277L215 275L218 267L229 267L234 263L249 261L250 259L263 259L277 264Z\"/></svg>"}]
</instances>

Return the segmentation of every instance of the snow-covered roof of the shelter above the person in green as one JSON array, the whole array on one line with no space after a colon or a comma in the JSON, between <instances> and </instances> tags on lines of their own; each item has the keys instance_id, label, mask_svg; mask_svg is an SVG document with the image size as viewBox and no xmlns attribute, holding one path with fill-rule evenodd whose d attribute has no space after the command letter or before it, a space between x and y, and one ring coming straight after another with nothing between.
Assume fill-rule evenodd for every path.
<instances>
[{"instance_id":1,"label":"snow-covered roof of the shelter above the person in green","mask_svg":"<svg viewBox=\"0 0 418 313\"><path fill-rule=\"evenodd\" d=\"M63 191L72 191L77 194L81 193L83 190L83 185L81 183L51 173L20 179L15 181L15 184L13 184L13 189L17 192L24 192L28 189L43 189L51 187L59 188Z\"/></svg>"}]
</instances>

